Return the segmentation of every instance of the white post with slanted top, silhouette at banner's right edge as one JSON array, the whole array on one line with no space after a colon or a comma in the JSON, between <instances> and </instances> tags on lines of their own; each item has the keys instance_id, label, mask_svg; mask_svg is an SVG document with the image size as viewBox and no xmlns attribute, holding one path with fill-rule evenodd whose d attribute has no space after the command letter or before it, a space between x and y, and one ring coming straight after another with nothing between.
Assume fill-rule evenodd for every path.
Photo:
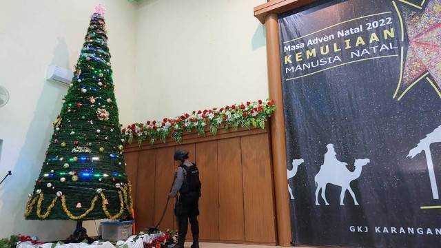
<instances>
[{"instance_id":1,"label":"white post with slanted top, silhouette at banner's right edge","mask_svg":"<svg viewBox=\"0 0 441 248\"><path fill-rule=\"evenodd\" d=\"M426 135L426 137L420 140L420 143L416 147L413 147L407 157L413 158L417 154L424 152L426 154L427 170L429 172L430 185L432 188L433 199L439 199L438 185L436 183L435 169L433 168L432 154L430 152L430 145L432 143L441 142L441 125L436 127L433 132Z\"/></svg>"}]
</instances>

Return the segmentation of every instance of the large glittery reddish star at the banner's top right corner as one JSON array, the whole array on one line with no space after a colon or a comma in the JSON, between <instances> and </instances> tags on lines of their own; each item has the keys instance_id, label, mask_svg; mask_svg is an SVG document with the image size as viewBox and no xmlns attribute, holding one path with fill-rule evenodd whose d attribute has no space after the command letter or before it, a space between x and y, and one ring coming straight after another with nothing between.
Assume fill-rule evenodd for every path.
<instances>
[{"instance_id":1,"label":"large glittery reddish star at the banner's top right corner","mask_svg":"<svg viewBox=\"0 0 441 248\"><path fill-rule=\"evenodd\" d=\"M416 5L411 7L422 9ZM393 97L404 89L399 101L413 85L425 82L430 83L441 98L441 0L430 1L420 14L409 8L404 8L403 14L409 45L402 81Z\"/></svg>"}]
</instances>

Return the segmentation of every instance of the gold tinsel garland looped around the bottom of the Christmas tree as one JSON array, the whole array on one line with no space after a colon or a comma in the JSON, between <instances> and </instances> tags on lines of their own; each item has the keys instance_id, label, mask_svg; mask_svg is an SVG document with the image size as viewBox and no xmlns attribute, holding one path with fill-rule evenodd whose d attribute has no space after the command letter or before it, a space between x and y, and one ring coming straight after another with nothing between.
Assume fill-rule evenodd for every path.
<instances>
[{"instance_id":1,"label":"gold tinsel garland looped around the bottom of the Christmas tree","mask_svg":"<svg viewBox=\"0 0 441 248\"><path fill-rule=\"evenodd\" d=\"M132 207L133 207L132 185L130 183L128 183L128 185L129 185L128 196L127 196L127 189L125 189L125 188L120 188L120 191L118 192L121 209L114 216L112 216L112 214L110 214L110 212L107 210L107 206L105 205L105 200L106 200L105 195L103 194L103 192L99 192L99 194L101 195L101 198L103 200L103 205L102 205L103 211L104 211L105 215L107 216L107 218L115 220L116 218L121 216L124 211L124 204L127 208L127 211L129 212L129 214L132 213ZM121 194L121 192L123 192L124 197L123 197L123 194ZM37 203L37 216L41 219L48 218L48 216L50 215L50 212L52 211L52 208L57 203L58 198L59 198L59 196L55 196L55 198L52 200L52 203L50 203L48 210L46 211L45 214L41 214L41 203L43 203L43 193L41 193L39 196L37 196L35 198L32 198L32 197L28 198L28 202L26 203L26 208L25 208L25 217L30 216L35 203ZM38 200L38 202L37 202L37 200ZM66 205L66 200L65 200L64 195L61 196L61 205L63 206L63 210L65 211L65 213L68 215L69 218L71 218L72 220L79 220L79 219L87 216L90 213L90 211L92 211L94 209L96 200L98 200L98 196L94 196L94 198L91 201L90 208L88 210L86 210L84 214L81 214L80 216L72 215L72 213L69 211L69 209Z\"/></svg>"}]
</instances>

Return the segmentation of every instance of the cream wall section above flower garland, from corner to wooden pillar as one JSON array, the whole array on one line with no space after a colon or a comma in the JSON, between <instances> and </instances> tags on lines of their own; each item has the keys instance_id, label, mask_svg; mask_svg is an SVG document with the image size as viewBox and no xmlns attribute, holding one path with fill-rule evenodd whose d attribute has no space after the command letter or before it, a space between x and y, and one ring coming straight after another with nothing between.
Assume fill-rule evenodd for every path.
<instances>
[{"instance_id":1,"label":"cream wall section above flower garland, from corner to wooden pillar","mask_svg":"<svg viewBox=\"0 0 441 248\"><path fill-rule=\"evenodd\" d=\"M268 97L265 0L145 0L136 14L137 122Z\"/></svg>"}]
</instances>

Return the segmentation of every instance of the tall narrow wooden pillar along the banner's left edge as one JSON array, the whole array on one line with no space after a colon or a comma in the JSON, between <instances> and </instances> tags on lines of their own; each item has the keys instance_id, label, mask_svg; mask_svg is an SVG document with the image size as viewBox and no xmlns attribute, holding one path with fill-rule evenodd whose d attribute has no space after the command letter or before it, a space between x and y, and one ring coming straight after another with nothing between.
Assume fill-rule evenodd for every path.
<instances>
[{"instance_id":1,"label":"tall narrow wooden pillar along the banner's left edge","mask_svg":"<svg viewBox=\"0 0 441 248\"><path fill-rule=\"evenodd\" d=\"M283 115L282 78L278 41L278 17L276 13L265 17L267 28L267 62L269 97L276 102L277 110L271 117L271 146L276 191L276 220L278 245L291 245L291 221L287 190L287 159L285 143L285 118Z\"/></svg>"}]
</instances>

